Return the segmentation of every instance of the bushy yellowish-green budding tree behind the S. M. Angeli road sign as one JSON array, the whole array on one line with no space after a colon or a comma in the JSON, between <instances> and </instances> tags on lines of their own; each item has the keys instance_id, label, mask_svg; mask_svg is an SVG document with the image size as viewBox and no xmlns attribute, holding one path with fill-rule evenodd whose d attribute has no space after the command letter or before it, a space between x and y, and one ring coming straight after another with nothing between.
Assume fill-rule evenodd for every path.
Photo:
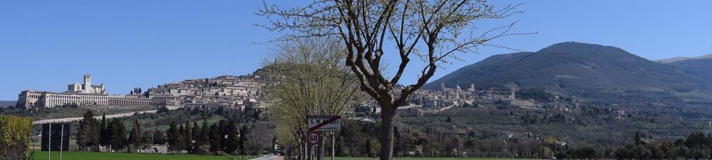
<instances>
[{"instance_id":1,"label":"bushy yellowish-green budding tree behind the S. M. Angeli road sign","mask_svg":"<svg viewBox=\"0 0 712 160\"><path fill-rule=\"evenodd\" d=\"M271 117L278 122L280 143L299 145L298 151L306 154L301 144L307 142L307 117L347 117L364 96L355 75L342 65L346 50L337 38L302 38L272 49L260 71L268 78Z\"/></svg>"}]
</instances>

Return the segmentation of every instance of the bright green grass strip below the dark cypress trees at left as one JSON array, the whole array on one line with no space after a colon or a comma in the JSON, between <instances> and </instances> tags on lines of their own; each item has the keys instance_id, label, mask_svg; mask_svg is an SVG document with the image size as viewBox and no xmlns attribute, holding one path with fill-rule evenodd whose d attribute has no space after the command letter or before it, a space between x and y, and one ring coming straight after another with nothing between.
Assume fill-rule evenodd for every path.
<instances>
[{"instance_id":1,"label":"bright green grass strip below the dark cypress trees at left","mask_svg":"<svg viewBox=\"0 0 712 160\"><path fill-rule=\"evenodd\" d=\"M34 151L32 160L48 159L47 151ZM62 159L73 160L122 160L122 159L150 159L150 160L240 160L254 159L258 156L201 156L194 154L127 154L127 153L103 153L89 151L63 151ZM51 159L59 159L59 151L52 151Z\"/></svg>"}]
</instances>

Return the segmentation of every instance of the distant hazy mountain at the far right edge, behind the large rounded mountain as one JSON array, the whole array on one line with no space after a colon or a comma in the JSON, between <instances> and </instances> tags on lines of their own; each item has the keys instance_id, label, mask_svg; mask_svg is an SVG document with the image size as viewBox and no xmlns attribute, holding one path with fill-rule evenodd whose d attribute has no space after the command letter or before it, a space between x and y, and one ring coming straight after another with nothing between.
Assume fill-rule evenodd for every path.
<instances>
[{"instance_id":1,"label":"distant hazy mountain at the far right edge, behind the large rounded mountain","mask_svg":"<svg viewBox=\"0 0 712 160\"><path fill-rule=\"evenodd\" d=\"M712 68L712 58L680 60L667 64L682 70L682 72L688 75L712 82L712 70L710 70L710 68Z\"/></svg>"}]
</instances>

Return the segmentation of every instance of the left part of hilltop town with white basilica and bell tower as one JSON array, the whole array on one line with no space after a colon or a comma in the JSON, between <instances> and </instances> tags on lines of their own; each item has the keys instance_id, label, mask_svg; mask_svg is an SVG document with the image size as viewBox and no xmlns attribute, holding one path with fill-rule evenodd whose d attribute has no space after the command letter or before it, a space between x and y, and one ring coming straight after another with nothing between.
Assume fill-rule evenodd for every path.
<instances>
[{"instance_id":1,"label":"left part of hilltop town with white basilica and bell tower","mask_svg":"<svg viewBox=\"0 0 712 160\"><path fill-rule=\"evenodd\" d=\"M84 75L83 83L69 84L65 92L24 90L16 106L26 110L64 106L266 107L263 82L258 79L259 76L221 75L171 82L145 92L135 88L128 95L109 95L104 84L91 85L92 76Z\"/></svg>"}]
</instances>

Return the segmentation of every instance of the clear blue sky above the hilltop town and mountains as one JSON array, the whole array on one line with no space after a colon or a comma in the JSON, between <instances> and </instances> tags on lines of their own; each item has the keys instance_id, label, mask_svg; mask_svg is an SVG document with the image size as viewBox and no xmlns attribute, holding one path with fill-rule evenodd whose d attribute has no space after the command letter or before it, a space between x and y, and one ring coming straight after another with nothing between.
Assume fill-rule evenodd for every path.
<instances>
[{"instance_id":1,"label":"clear blue sky above the hilltop town and mountains","mask_svg":"<svg viewBox=\"0 0 712 160\"><path fill-rule=\"evenodd\" d=\"M266 21L254 14L259 7L251 0L0 1L0 100L28 89L61 92L86 73L110 94L252 73L269 46L253 42L278 36L253 25ZM519 20L513 31L538 34L493 43L528 51L578 41L651 60L712 53L712 1L526 1L519 9L525 13L480 27ZM466 60L445 65L431 80L511 52L484 48L461 56ZM403 82L414 82L417 73L407 70Z\"/></svg>"}]
</instances>

